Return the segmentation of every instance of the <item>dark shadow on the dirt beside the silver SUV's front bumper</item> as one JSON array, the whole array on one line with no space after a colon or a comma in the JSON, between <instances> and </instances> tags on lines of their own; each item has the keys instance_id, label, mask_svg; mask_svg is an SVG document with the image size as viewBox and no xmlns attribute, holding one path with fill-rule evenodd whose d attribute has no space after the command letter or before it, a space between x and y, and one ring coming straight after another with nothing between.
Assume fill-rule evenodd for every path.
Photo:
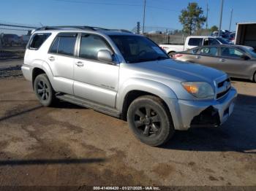
<instances>
[{"instance_id":1,"label":"dark shadow on the dirt beside the silver SUV's front bumper","mask_svg":"<svg viewBox=\"0 0 256 191\"><path fill-rule=\"evenodd\" d=\"M163 149L256 154L256 97L238 95L233 114L220 128L177 131Z\"/></svg>"}]
</instances>

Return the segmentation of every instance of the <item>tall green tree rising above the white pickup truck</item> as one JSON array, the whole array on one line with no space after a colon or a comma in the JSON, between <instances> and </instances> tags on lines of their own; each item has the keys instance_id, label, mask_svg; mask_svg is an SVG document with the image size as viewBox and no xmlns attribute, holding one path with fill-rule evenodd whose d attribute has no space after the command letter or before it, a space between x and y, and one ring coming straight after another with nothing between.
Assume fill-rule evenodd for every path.
<instances>
[{"instance_id":1,"label":"tall green tree rising above the white pickup truck","mask_svg":"<svg viewBox=\"0 0 256 191\"><path fill-rule=\"evenodd\" d=\"M203 15L203 9L198 7L197 3L192 2L189 3L187 9L181 10L179 21L183 25L184 33L191 35L203 27L206 17Z\"/></svg>"}]
</instances>

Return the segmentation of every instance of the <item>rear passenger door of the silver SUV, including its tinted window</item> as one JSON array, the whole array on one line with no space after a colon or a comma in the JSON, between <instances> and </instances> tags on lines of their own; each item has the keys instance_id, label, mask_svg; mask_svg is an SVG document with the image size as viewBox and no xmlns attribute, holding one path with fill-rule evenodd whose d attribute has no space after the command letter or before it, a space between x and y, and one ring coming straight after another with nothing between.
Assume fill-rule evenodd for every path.
<instances>
[{"instance_id":1,"label":"rear passenger door of the silver SUV, including its tinted window","mask_svg":"<svg viewBox=\"0 0 256 191\"><path fill-rule=\"evenodd\" d=\"M56 91L73 94L74 54L77 33L60 33L48 52L48 63L53 72Z\"/></svg>"}]
</instances>

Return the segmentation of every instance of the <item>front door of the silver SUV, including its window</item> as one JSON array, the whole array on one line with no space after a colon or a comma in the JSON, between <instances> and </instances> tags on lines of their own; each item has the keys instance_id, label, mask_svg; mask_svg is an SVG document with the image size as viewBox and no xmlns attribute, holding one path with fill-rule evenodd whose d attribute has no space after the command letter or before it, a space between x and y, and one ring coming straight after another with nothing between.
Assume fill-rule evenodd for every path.
<instances>
[{"instance_id":1,"label":"front door of the silver SUV, including its window","mask_svg":"<svg viewBox=\"0 0 256 191\"><path fill-rule=\"evenodd\" d=\"M81 34L78 58L74 65L74 94L107 106L116 106L119 66L98 61L99 50L111 50L108 42L96 34Z\"/></svg>"}]
</instances>

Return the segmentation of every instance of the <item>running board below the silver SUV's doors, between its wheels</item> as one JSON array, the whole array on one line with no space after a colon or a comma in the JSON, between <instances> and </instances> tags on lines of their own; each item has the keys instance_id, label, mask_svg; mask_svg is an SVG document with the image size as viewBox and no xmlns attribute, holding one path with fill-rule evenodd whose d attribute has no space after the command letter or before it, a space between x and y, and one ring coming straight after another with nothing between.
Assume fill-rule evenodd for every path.
<instances>
[{"instance_id":1,"label":"running board below the silver SUV's doors, between its wheels","mask_svg":"<svg viewBox=\"0 0 256 191\"><path fill-rule=\"evenodd\" d=\"M97 104L93 101L89 101L89 100L86 100L83 98L78 98L74 95L57 93L56 98L59 98L62 101L67 101L69 103L76 104L78 106L83 106L83 107L86 107L89 109L94 109L97 112L108 114L113 117L118 117L118 118L121 117L120 112L118 112L118 110L116 110L116 109L113 109L109 106Z\"/></svg>"}]
</instances>

